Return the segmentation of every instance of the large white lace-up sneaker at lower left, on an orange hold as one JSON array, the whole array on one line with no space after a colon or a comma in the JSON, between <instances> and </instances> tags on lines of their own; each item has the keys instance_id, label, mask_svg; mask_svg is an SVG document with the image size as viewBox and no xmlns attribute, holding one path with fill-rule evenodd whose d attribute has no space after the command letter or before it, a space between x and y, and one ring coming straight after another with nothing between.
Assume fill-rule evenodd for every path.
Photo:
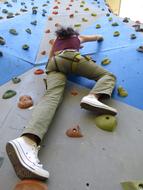
<instances>
[{"instance_id":1,"label":"large white lace-up sneaker at lower left, on an orange hold","mask_svg":"<svg viewBox=\"0 0 143 190\"><path fill-rule=\"evenodd\" d=\"M30 138L23 136L9 141L6 151L20 179L49 178L49 172L43 169L38 159L39 146Z\"/></svg>"}]
</instances>

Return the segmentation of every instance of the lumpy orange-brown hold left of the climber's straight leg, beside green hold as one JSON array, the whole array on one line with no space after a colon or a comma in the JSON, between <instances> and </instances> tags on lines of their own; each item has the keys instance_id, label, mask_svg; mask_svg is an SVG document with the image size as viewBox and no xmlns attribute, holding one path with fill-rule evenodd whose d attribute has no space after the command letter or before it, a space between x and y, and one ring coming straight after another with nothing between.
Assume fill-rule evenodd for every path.
<instances>
[{"instance_id":1,"label":"lumpy orange-brown hold left of the climber's straight leg, beside green hold","mask_svg":"<svg viewBox=\"0 0 143 190\"><path fill-rule=\"evenodd\" d=\"M17 105L21 109L26 109L33 106L33 100L31 96L24 95L19 98L19 102Z\"/></svg>"}]
</instances>

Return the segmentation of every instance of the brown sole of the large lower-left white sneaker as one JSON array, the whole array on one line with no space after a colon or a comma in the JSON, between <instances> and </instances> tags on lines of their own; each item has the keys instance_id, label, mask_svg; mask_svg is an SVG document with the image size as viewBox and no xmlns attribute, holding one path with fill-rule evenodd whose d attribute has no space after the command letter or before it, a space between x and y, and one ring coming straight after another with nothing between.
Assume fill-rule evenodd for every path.
<instances>
[{"instance_id":1,"label":"brown sole of the large lower-left white sneaker","mask_svg":"<svg viewBox=\"0 0 143 190\"><path fill-rule=\"evenodd\" d=\"M14 170L16 172L16 175L20 179L40 179L42 181L46 180L47 178L44 178L42 176L39 176L32 171L29 171L18 158L18 155L16 153L15 147L11 143L6 144L6 152L8 154L8 157L14 167ZM31 168L32 169L32 168Z\"/></svg>"}]
</instances>

